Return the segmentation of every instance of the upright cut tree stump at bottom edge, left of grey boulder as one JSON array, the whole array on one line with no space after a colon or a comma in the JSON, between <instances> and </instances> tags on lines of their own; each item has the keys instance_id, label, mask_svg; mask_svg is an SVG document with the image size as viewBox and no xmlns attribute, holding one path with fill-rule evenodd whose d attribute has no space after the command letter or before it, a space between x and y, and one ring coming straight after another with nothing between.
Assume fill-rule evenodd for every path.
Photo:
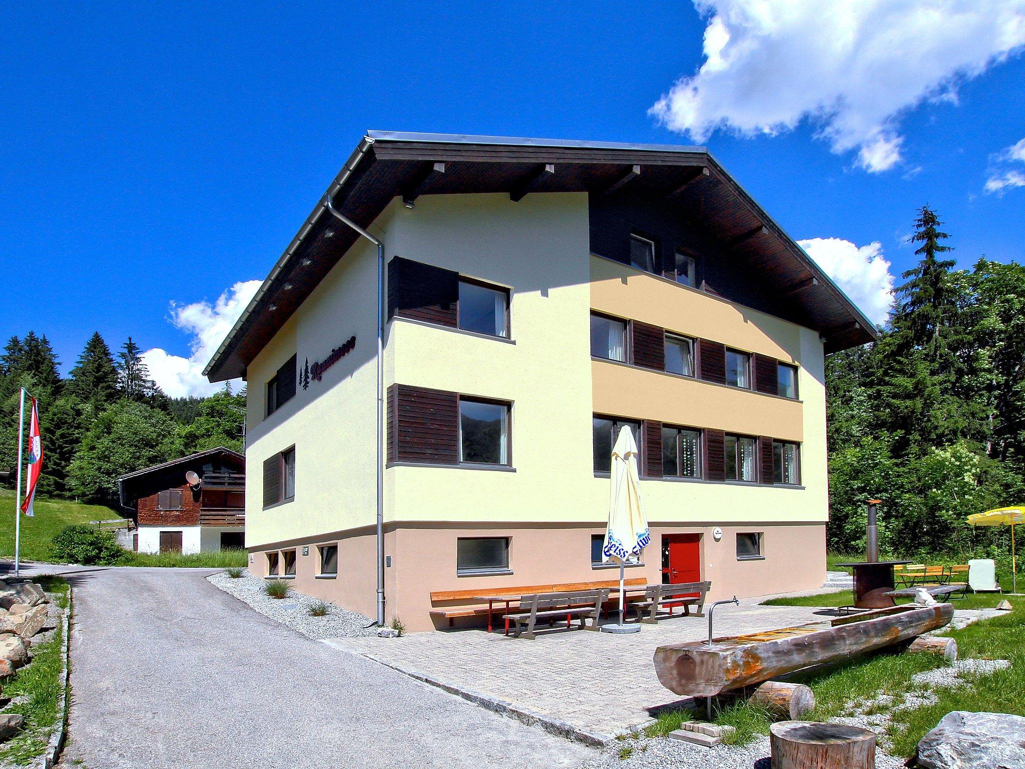
<instances>
[{"instance_id":1,"label":"upright cut tree stump at bottom edge, left of grey boulder","mask_svg":"<svg viewBox=\"0 0 1025 769\"><path fill-rule=\"evenodd\" d=\"M875 734L844 724L780 721L770 727L772 769L874 769Z\"/></svg>"}]
</instances>

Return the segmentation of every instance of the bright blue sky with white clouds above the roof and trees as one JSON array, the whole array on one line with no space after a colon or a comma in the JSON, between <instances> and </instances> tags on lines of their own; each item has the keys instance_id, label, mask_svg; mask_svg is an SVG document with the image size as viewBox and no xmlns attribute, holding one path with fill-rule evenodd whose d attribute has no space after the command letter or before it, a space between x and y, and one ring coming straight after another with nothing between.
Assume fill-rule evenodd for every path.
<instances>
[{"instance_id":1,"label":"bright blue sky with white clouds above the roof and trees","mask_svg":"<svg viewBox=\"0 0 1025 769\"><path fill-rule=\"evenodd\" d=\"M198 392L243 303L224 292L266 275L368 128L700 139L794 238L838 239L813 255L854 293L878 288L872 256L911 265L925 202L962 266L1025 260L1018 0L924 3L967 16L885 54L907 19L867 0L853 46L799 2L701 2L6 3L0 336L46 333L67 371L93 330L131 334Z\"/></svg>"}]
</instances>

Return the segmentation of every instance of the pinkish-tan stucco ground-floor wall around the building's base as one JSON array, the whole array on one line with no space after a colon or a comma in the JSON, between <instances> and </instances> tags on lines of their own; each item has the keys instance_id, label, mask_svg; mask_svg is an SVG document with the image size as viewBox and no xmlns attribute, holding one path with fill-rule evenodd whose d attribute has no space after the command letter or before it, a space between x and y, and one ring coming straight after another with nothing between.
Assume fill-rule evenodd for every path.
<instances>
[{"instance_id":1,"label":"pinkish-tan stucco ground-floor wall around the building's base","mask_svg":"<svg viewBox=\"0 0 1025 769\"><path fill-rule=\"evenodd\" d=\"M723 537L715 541L712 530L720 526ZM603 522L586 524L453 526L450 523L402 524L385 534L385 553L391 566L385 569L387 619L400 616L410 631L447 626L432 618L430 593L440 591L489 591L546 582L604 581L616 578L614 569L593 568L590 537L603 534ZM644 564L631 567L628 575L643 576L648 583L661 581L661 537L663 534L695 533L701 536L701 578L712 582L709 600L749 598L790 591L811 591L825 581L825 525L791 522L749 521L724 525L714 521L676 522L653 525L652 543L644 554ZM736 535L763 534L764 558L738 560ZM508 536L509 573L460 576L456 574L456 540L462 536ZM371 534L338 540L338 575L318 579L316 544L323 537L295 548L296 575L290 584L306 595L331 601L343 608L373 616L374 544ZM310 554L301 555L303 544ZM251 553L250 571L266 574L266 550ZM460 605L475 602L460 602Z\"/></svg>"}]
</instances>

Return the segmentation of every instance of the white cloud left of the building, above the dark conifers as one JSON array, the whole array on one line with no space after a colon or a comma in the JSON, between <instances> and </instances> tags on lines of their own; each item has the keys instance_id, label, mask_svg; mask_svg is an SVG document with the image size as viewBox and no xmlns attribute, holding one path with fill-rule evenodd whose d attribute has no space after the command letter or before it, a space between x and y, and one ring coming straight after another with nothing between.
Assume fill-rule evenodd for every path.
<instances>
[{"instance_id":1,"label":"white cloud left of the building, above the dark conifers","mask_svg":"<svg viewBox=\"0 0 1025 769\"><path fill-rule=\"evenodd\" d=\"M259 285L258 280L240 281L221 293L213 305L206 300L182 307L171 302L171 323L192 334L192 340L189 342L188 358L171 355L160 348L142 353L150 376L161 390L172 398L181 398L189 395L213 395L223 388L223 383L213 385L208 381L203 376L203 369ZM236 392L237 385L238 382L233 382Z\"/></svg>"}]
</instances>

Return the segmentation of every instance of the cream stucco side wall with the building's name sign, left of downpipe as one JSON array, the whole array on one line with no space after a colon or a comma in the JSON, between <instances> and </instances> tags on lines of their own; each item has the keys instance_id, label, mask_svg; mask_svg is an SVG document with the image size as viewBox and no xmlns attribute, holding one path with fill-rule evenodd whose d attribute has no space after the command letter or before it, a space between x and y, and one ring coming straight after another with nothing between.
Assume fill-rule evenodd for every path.
<instances>
[{"instance_id":1,"label":"cream stucco side wall with the building's name sign, left of downpipe","mask_svg":"<svg viewBox=\"0 0 1025 769\"><path fill-rule=\"evenodd\" d=\"M378 219L386 226L386 217ZM246 547L370 526L376 511L377 249L358 241L247 369ZM268 417L265 386L293 354L301 372L354 350ZM295 498L263 509L263 460L295 446Z\"/></svg>"}]
</instances>

